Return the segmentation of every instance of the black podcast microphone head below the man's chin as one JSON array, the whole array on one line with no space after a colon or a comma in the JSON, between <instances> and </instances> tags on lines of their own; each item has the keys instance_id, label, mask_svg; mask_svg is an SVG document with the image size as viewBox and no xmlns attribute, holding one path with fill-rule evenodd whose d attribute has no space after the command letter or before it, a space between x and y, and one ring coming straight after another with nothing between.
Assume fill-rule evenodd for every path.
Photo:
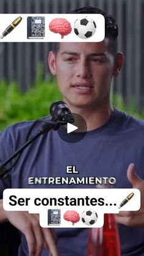
<instances>
[{"instance_id":1,"label":"black podcast microphone head below the man's chin","mask_svg":"<svg viewBox=\"0 0 144 256\"><path fill-rule=\"evenodd\" d=\"M74 117L64 101L56 101L52 103L49 109L54 119L67 123L74 122Z\"/></svg>"}]
</instances>

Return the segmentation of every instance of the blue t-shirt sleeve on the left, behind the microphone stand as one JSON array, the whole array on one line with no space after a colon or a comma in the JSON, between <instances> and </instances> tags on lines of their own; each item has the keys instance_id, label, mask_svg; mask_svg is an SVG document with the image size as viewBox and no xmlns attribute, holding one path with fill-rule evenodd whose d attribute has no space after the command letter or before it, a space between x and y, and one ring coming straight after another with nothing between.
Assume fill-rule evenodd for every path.
<instances>
[{"instance_id":1,"label":"blue t-shirt sleeve on the left, behind the microphone stand","mask_svg":"<svg viewBox=\"0 0 144 256\"><path fill-rule=\"evenodd\" d=\"M27 141L27 137L29 137L30 134L32 136L32 134L38 132L39 126L33 125L34 121L19 122L8 126L0 133L0 166ZM0 198L2 198L2 192L5 188L12 188L11 183L13 182L11 182L11 180L13 181L13 168L15 168L13 166L15 166L16 159L18 159L18 156L4 166L5 169L11 170L4 178L0 178Z\"/></svg>"}]
</instances>

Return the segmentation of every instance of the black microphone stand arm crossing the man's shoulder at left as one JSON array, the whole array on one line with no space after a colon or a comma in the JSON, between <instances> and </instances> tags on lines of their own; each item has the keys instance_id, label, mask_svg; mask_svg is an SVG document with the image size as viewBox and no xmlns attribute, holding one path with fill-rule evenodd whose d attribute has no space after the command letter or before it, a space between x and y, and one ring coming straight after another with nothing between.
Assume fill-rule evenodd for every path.
<instances>
[{"instance_id":1,"label":"black microphone stand arm crossing the man's shoulder at left","mask_svg":"<svg viewBox=\"0 0 144 256\"><path fill-rule=\"evenodd\" d=\"M14 152L9 158L7 158L0 166L0 179L5 176L8 172L10 172L10 169L5 169L5 166L12 161L13 158L15 158L17 155L19 155L23 150L29 146L37 137L39 137L41 134L48 133L51 129L58 130L60 125L65 125L67 122L63 121L46 121L44 125L41 126L38 133L34 134L26 143L24 143L16 152Z\"/></svg>"}]
</instances>

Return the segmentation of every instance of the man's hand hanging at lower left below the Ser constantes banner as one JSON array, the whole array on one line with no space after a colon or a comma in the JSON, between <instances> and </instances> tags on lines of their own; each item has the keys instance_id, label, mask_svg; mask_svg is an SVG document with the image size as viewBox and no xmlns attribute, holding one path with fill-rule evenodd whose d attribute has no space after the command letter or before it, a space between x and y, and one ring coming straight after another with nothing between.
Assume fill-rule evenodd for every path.
<instances>
[{"instance_id":1,"label":"man's hand hanging at lower left below the Ser constantes banner","mask_svg":"<svg viewBox=\"0 0 144 256\"><path fill-rule=\"evenodd\" d=\"M40 227L38 214L27 211L5 211L5 214L10 223L26 236L29 256L40 256L43 247L51 252L51 256L59 256L56 236L52 229Z\"/></svg>"}]
</instances>

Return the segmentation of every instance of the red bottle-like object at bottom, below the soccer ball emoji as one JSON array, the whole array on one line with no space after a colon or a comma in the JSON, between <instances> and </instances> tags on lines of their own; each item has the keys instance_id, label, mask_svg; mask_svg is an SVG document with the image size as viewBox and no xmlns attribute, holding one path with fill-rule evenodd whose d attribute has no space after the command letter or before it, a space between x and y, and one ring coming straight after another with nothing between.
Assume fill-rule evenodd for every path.
<instances>
[{"instance_id":1,"label":"red bottle-like object at bottom, below the soccer ball emoji","mask_svg":"<svg viewBox=\"0 0 144 256\"><path fill-rule=\"evenodd\" d=\"M104 214L104 225L90 229L87 256L120 256L120 240L115 215Z\"/></svg>"}]
</instances>

